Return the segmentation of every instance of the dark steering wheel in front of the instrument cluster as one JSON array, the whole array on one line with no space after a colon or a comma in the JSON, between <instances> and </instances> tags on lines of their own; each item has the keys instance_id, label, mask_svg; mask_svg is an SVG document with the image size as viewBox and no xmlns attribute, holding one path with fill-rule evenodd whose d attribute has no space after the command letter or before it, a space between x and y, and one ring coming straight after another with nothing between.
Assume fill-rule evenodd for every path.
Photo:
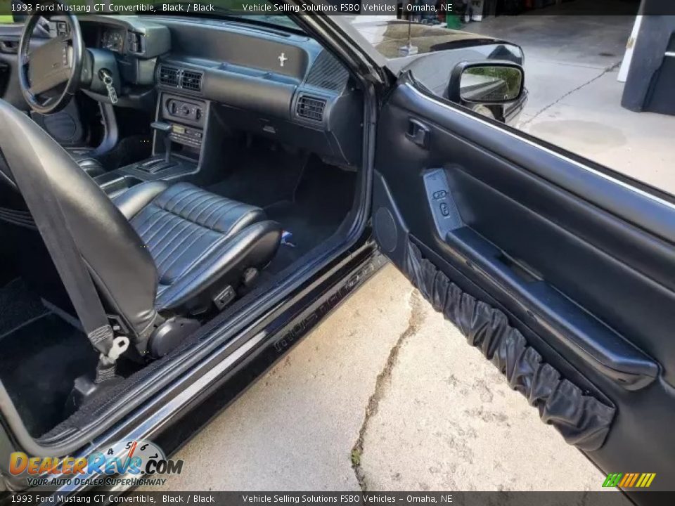
<instances>
[{"instance_id":1,"label":"dark steering wheel in front of the instrument cluster","mask_svg":"<svg viewBox=\"0 0 675 506\"><path fill-rule=\"evenodd\" d=\"M21 92L32 110L46 115L65 108L79 88L84 42L75 15L44 17L56 21L56 37L31 49L30 39L40 16L30 15L21 34L18 58Z\"/></svg>"}]
</instances>

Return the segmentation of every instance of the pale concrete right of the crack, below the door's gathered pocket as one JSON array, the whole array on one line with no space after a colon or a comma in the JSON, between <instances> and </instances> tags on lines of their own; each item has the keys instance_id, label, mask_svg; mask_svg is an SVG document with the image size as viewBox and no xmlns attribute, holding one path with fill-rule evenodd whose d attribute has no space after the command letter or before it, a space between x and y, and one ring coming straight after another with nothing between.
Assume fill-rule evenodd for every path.
<instances>
[{"instance_id":1,"label":"pale concrete right of the crack, below the door's gathered pocket","mask_svg":"<svg viewBox=\"0 0 675 506\"><path fill-rule=\"evenodd\" d=\"M603 476L429 306L363 438L368 490L597 490ZM565 476L565 480L560 480Z\"/></svg>"}]
</instances>

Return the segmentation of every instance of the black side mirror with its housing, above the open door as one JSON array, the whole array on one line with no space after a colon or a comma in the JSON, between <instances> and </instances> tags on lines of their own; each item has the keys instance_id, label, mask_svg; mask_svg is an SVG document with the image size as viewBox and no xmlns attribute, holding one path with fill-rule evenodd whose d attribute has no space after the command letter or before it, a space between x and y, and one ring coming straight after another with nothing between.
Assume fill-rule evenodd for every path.
<instances>
[{"instance_id":1,"label":"black side mirror with its housing, above the open door","mask_svg":"<svg viewBox=\"0 0 675 506\"><path fill-rule=\"evenodd\" d=\"M448 99L460 104L499 104L518 100L525 71L509 61L458 63L450 74Z\"/></svg>"}]
</instances>

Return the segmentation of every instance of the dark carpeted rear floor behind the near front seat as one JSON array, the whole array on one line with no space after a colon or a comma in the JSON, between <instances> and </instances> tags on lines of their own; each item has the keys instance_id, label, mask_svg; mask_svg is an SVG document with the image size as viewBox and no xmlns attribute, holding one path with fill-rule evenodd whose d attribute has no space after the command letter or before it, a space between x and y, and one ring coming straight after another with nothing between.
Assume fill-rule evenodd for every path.
<instances>
[{"instance_id":1,"label":"dark carpeted rear floor behind the near front seat","mask_svg":"<svg viewBox=\"0 0 675 506\"><path fill-rule=\"evenodd\" d=\"M63 420L73 381L97 362L86 335L55 313L1 336L0 349L0 378L33 436Z\"/></svg>"}]
</instances>

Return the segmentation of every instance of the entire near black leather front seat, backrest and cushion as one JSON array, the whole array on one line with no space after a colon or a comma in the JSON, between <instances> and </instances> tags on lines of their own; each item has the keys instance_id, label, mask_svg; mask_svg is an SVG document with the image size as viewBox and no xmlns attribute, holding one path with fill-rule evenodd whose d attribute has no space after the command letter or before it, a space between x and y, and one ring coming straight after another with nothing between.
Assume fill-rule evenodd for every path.
<instances>
[{"instance_id":1,"label":"entire near black leather front seat, backrest and cushion","mask_svg":"<svg viewBox=\"0 0 675 506\"><path fill-rule=\"evenodd\" d=\"M56 141L3 100L0 124L8 167L49 179L107 311L141 354L168 351L181 336L174 329L183 320L172 326L176 318L195 321L219 309L281 242L281 226L262 209L188 183L142 183L113 202Z\"/></svg>"}]
</instances>

